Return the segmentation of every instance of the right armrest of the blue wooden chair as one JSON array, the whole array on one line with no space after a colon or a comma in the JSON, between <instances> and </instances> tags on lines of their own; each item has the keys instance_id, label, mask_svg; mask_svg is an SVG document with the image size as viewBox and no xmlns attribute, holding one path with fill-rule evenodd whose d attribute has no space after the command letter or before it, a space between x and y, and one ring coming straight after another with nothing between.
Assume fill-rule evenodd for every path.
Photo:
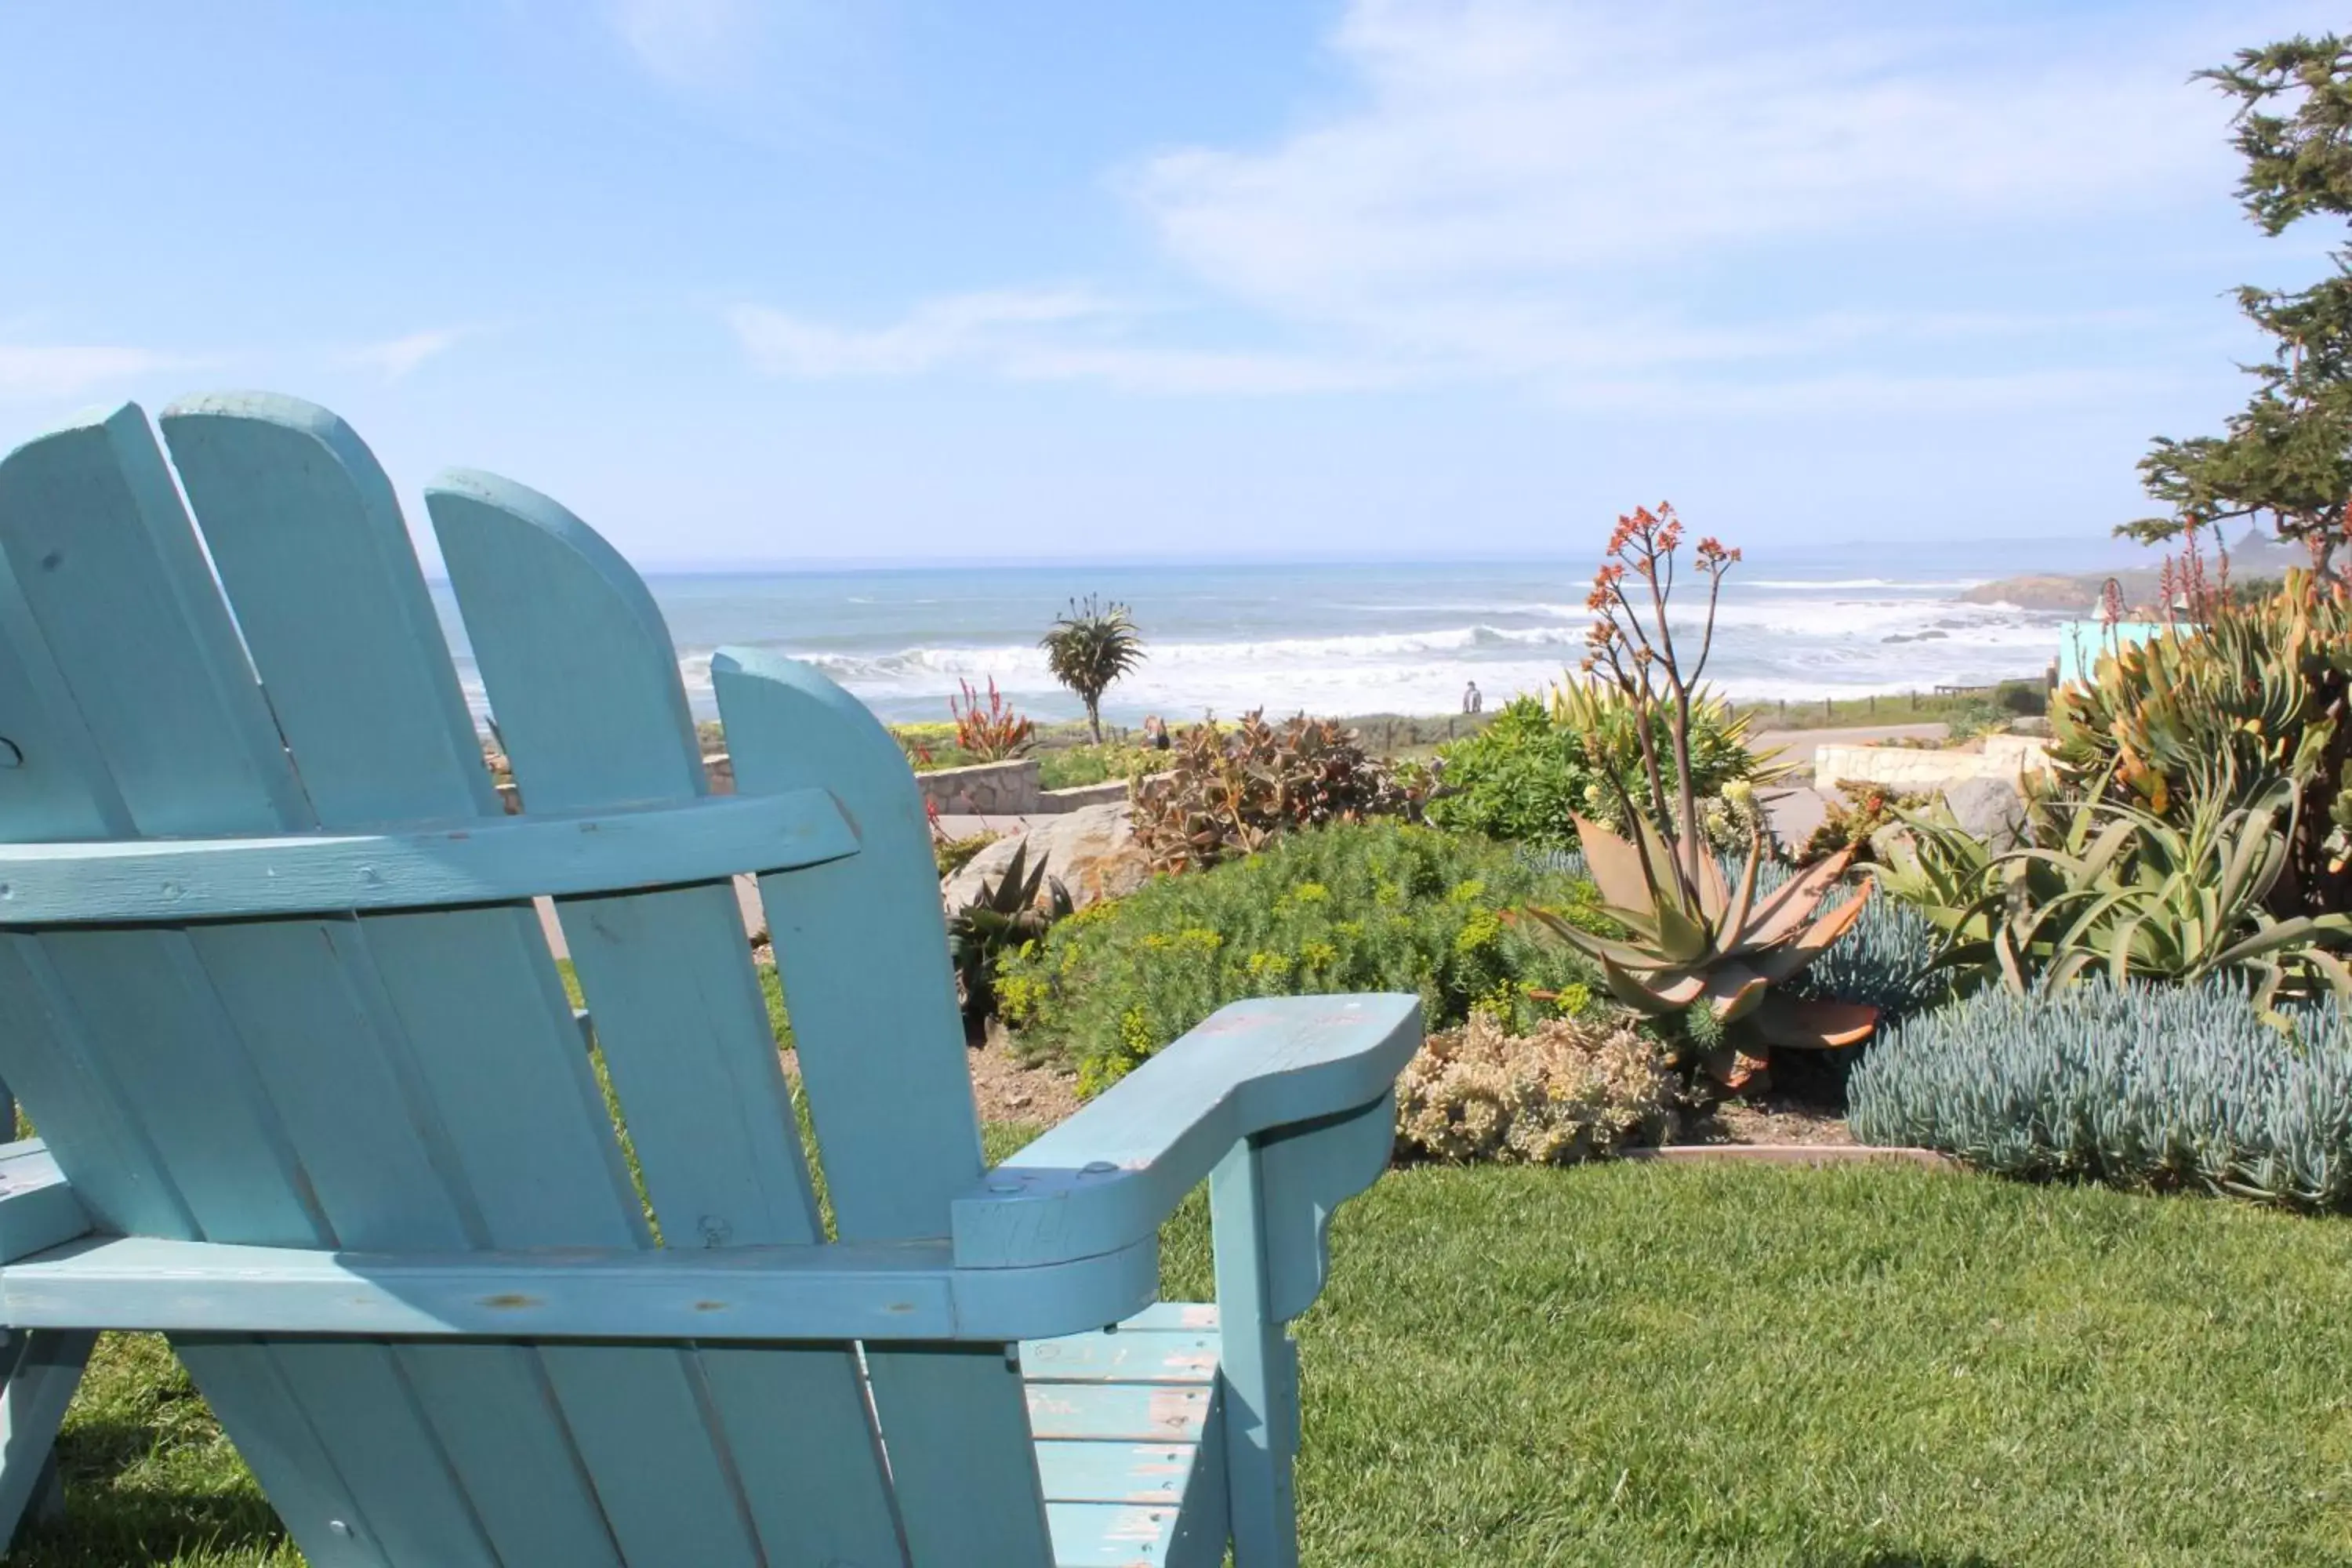
<instances>
[{"instance_id":1,"label":"right armrest of the blue wooden chair","mask_svg":"<svg viewBox=\"0 0 2352 1568\"><path fill-rule=\"evenodd\" d=\"M1014 1269L1150 1241L1240 1143L1385 1103L1418 1048L1421 997L1223 1006L955 1199L955 1262Z\"/></svg>"}]
</instances>

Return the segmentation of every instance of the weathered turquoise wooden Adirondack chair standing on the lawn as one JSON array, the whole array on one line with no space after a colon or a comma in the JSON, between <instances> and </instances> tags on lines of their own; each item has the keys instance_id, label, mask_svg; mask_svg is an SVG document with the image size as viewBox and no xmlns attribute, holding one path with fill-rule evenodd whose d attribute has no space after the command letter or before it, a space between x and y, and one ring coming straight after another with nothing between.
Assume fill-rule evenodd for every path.
<instances>
[{"instance_id":1,"label":"weathered turquoise wooden Adirondack chair standing on the lawn","mask_svg":"<svg viewBox=\"0 0 2352 1568\"><path fill-rule=\"evenodd\" d=\"M722 654L708 797L635 574L445 475L503 816L367 447L261 395L160 425L0 463L0 1077L42 1133L0 1152L0 1528L94 1331L143 1328L318 1568L1296 1561L1284 1324L1414 999L1225 1009L988 1171L924 813L854 698ZM1218 1302L1155 1305L1202 1180Z\"/></svg>"}]
</instances>

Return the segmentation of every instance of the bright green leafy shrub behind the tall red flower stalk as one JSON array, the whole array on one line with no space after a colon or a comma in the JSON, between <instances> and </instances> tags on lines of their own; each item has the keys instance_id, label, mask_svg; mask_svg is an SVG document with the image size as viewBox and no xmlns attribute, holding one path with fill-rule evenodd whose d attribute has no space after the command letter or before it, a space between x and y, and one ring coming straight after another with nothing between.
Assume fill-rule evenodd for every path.
<instances>
[{"instance_id":1,"label":"bright green leafy shrub behind the tall red flower stalk","mask_svg":"<svg viewBox=\"0 0 2352 1568\"><path fill-rule=\"evenodd\" d=\"M1665 712L1651 715L1651 731L1665 788L1672 790ZM1745 738L1745 717L1712 696L1693 693L1691 788L1700 797L1722 797L1726 785L1762 776ZM1550 703L1517 696L1486 729L1439 748L1442 790L1430 797L1430 820L1536 849L1573 849L1578 813L1602 827L1625 830L1618 792L1595 764L1595 750L1630 799L1646 797L1632 705L1613 689L1569 682L1555 689ZM1745 849L1745 837L1738 846Z\"/></svg>"}]
</instances>

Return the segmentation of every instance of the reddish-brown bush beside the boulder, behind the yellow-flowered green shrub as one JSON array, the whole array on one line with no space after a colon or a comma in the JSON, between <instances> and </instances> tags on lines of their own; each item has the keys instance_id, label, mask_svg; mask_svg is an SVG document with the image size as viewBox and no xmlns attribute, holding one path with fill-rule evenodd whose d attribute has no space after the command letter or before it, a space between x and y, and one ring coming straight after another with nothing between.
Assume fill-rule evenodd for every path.
<instances>
[{"instance_id":1,"label":"reddish-brown bush beside the boulder, behind the yellow-flowered green shrub","mask_svg":"<svg viewBox=\"0 0 2352 1568\"><path fill-rule=\"evenodd\" d=\"M1164 757L1167 778L1134 790L1136 844L1164 872L1256 853L1289 827L1414 816L1421 804L1338 719L1275 726L1247 712L1230 729L1195 724Z\"/></svg>"}]
</instances>

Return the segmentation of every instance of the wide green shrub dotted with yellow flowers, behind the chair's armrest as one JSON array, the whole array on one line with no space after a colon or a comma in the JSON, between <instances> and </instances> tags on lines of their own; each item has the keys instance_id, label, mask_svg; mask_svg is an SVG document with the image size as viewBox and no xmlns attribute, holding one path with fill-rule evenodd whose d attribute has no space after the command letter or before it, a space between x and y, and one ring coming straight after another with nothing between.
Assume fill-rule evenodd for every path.
<instances>
[{"instance_id":1,"label":"wide green shrub dotted with yellow flowers, behind the chair's armrest","mask_svg":"<svg viewBox=\"0 0 2352 1568\"><path fill-rule=\"evenodd\" d=\"M1524 1027L1597 987L1585 959L1503 919L1531 898L1592 907L1590 886L1479 839L1341 823L1080 910L1002 961L997 999L1087 1093L1240 997L1418 992L1430 1030L1472 1006Z\"/></svg>"}]
</instances>

